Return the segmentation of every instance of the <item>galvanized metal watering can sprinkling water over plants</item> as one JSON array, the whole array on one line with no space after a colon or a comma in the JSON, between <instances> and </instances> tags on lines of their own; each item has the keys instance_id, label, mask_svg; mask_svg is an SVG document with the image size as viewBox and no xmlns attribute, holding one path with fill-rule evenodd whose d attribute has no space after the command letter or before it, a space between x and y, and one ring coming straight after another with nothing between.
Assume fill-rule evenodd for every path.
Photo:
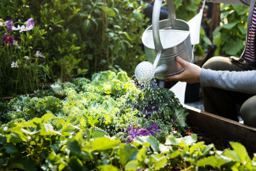
<instances>
[{"instance_id":1,"label":"galvanized metal watering can sprinkling water over plants","mask_svg":"<svg viewBox=\"0 0 256 171\"><path fill-rule=\"evenodd\" d=\"M147 61L136 66L135 77L139 82L148 82L153 77L164 78L184 70L175 62L177 56L193 63L193 52L187 22L166 19L159 22L162 0L156 0L153 8L152 25L142 35ZM168 0L169 18L175 18L172 0Z\"/></svg>"}]
</instances>

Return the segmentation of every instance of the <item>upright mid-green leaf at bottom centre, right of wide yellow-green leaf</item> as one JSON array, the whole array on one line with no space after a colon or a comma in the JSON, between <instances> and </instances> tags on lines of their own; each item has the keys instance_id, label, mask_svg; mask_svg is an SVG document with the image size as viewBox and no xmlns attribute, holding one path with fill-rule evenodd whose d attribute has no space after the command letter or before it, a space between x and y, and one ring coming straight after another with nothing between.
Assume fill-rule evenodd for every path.
<instances>
[{"instance_id":1,"label":"upright mid-green leaf at bottom centre, right of wide yellow-green leaf","mask_svg":"<svg viewBox=\"0 0 256 171\"><path fill-rule=\"evenodd\" d=\"M134 155L136 159L137 153L137 149L132 145L128 144L122 144L120 149L118 149L117 151L119 161L123 167L129 160L132 160L134 158Z\"/></svg>"}]
</instances>

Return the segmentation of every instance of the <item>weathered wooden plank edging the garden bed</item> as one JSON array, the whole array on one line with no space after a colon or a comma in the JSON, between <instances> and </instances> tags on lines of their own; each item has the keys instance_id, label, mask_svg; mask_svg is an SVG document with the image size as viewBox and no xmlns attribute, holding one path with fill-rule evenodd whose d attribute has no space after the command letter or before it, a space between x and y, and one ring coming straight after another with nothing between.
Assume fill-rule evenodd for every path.
<instances>
[{"instance_id":1,"label":"weathered wooden plank edging the garden bed","mask_svg":"<svg viewBox=\"0 0 256 171\"><path fill-rule=\"evenodd\" d=\"M204 112L198 108L184 105L189 115L188 123L220 137L241 142L247 148L256 148L256 128L232 121L219 115Z\"/></svg>"}]
</instances>

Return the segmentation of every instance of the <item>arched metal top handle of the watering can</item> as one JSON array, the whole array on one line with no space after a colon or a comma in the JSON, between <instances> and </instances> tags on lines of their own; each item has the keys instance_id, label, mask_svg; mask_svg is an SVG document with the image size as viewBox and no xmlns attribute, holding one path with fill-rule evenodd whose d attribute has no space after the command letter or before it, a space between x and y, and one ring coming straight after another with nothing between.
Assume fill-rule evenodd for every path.
<instances>
[{"instance_id":1,"label":"arched metal top handle of the watering can","mask_svg":"<svg viewBox=\"0 0 256 171\"><path fill-rule=\"evenodd\" d=\"M173 0L167 1L168 13L169 18L175 19L175 7L173 4ZM161 11L162 0L155 0L154 7L153 7L153 14L152 14L152 30L153 30L153 38L154 38L154 45L156 48L156 52L162 51L163 46L161 44L160 36L159 36L159 17Z\"/></svg>"}]
</instances>

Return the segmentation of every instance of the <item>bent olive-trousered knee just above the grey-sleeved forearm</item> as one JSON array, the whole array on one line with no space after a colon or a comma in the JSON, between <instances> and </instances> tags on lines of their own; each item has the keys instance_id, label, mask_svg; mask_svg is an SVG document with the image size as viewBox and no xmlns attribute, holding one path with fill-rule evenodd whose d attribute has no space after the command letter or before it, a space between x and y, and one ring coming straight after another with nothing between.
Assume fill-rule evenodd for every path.
<instances>
[{"instance_id":1,"label":"bent olive-trousered knee just above the grey-sleeved forearm","mask_svg":"<svg viewBox=\"0 0 256 171\"><path fill-rule=\"evenodd\" d=\"M211 70L225 70L228 63L230 63L230 61L227 57L214 56L208 59L202 68Z\"/></svg>"}]
</instances>

